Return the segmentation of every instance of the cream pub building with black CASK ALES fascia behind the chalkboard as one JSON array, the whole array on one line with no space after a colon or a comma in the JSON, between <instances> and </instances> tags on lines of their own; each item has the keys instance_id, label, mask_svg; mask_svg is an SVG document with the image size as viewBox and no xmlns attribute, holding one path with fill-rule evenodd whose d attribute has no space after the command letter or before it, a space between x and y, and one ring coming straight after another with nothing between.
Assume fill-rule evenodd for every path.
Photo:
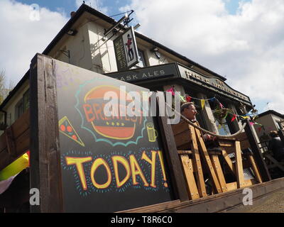
<instances>
[{"instance_id":1,"label":"cream pub building with black CASK ALES fascia behind the chalkboard","mask_svg":"<svg viewBox=\"0 0 284 227\"><path fill-rule=\"evenodd\" d=\"M70 20L45 48L43 55L151 91L167 91L174 87L175 91L181 92L182 95L188 94L192 98L197 98L192 101L195 101L197 106L197 121L202 128L220 135L239 131L241 123L231 122L230 116L226 118L226 130L218 127L213 114L215 104L205 101L204 108L201 108L198 99L216 97L235 114L242 115L253 108L249 96L231 88L226 84L226 78L221 75L138 31L134 32L135 37L133 37L136 39L133 42L136 41L138 48L136 52L138 63L136 62L136 65L131 66L130 69L122 68L121 65L119 66L118 53L114 50L114 45L119 35L129 28L119 24L106 35L106 31L114 25L117 25L117 22L113 18L82 4L76 12L71 13ZM7 132L7 128L29 111L30 101L33 99L33 93L30 93L30 73L31 70L26 72L0 106L0 135ZM61 74L60 77L62 77L62 87L75 82L74 79L68 78L68 74ZM256 133L254 129L252 133ZM0 166L0 170L3 167L5 166Z\"/></svg>"}]
</instances>

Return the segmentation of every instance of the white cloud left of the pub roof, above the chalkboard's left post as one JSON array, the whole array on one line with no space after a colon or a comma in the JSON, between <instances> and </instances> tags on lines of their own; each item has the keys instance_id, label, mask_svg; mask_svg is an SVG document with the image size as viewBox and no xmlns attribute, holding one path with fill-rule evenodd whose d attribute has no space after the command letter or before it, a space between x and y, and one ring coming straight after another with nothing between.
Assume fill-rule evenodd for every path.
<instances>
[{"instance_id":1,"label":"white cloud left of the pub roof, above the chalkboard's left post","mask_svg":"<svg viewBox=\"0 0 284 227\"><path fill-rule=\"evenodd\" d=\"M62 14L45 8L40 9L39 21L31 21L36 18L30 18L32 11L17 1L0 1L0 70L14 84L28 71L33 56L43 52L67 22Z\"/></svg>"}]
</instances>

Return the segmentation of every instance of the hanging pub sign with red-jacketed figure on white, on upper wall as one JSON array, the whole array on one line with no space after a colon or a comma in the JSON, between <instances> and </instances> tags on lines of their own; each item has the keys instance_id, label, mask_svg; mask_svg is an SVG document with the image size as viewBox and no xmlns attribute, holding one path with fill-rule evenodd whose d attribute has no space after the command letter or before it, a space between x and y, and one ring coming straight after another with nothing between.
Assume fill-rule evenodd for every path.
<instances>
[{"instance_id":1,"label":"hanging pub sign with red-jacketed figure on white, on upper wall","mask_svg":"<svg viewBox=\"0 0 284 227\"><path fill-rule=\"evenodd\" d=\"M114 40L117 70L128 70L138 63L138 50L134 29L131 26Z\"/></svg>"}]
</instances>

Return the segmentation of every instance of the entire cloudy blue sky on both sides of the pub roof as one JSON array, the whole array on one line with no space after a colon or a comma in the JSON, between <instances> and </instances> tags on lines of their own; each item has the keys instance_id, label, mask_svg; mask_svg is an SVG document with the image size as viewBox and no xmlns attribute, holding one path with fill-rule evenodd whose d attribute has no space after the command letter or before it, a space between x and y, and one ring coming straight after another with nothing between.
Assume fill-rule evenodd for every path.
<instances>
[{"instance_id":1,"label":"entire cloudy blue sky on both sides of the pub roof","mask_svg":"<svg viewBox=\"0 0 284 227\"><path fill-rule=\"evenodd\" d=\"M85 3L107 16L133 9L132 25L141 23L139 32L226 77L230 87L251 98L258 113L273 109L284 114L284 0ZM0 0L0 70L6 77L18 83L35 53L43 52L81 4ZM39 13L33 13L37 7Z\"/></svg>"}]
</instances>

